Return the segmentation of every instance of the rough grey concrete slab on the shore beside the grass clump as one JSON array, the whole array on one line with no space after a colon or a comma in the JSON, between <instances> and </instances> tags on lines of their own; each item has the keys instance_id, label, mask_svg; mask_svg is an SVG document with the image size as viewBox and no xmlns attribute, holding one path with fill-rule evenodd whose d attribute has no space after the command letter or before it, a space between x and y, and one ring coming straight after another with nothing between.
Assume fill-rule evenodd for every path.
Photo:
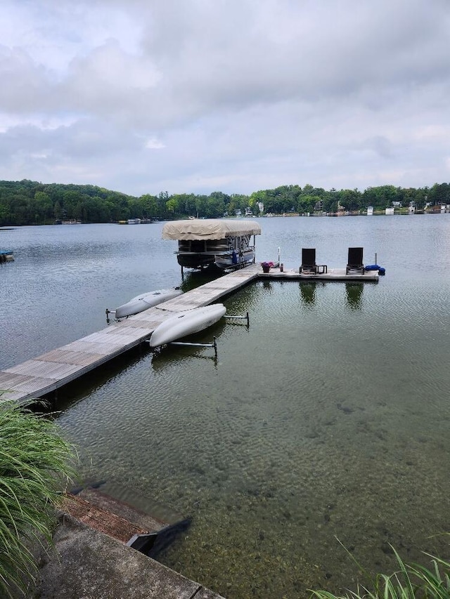
<instances>
[{"instance_id":1,"label":"rough grey concrete slab on the shore beside the grass clump","mask_svg":"<svg viewBox=\"0 0 450 599\"><path fill-rule=\"evenodd\" d=\"M223 599L68 515L53 542L54 551L39 555L34 599Z\"/></svg>"}]
</instances>

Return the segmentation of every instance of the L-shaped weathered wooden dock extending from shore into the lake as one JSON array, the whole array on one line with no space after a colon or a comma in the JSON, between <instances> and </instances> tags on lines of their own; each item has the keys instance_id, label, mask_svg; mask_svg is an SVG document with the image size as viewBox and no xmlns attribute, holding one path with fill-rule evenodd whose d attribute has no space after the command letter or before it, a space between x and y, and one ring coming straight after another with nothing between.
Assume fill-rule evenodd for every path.
<instances>
[{"instance_id":1,"label":"L-shaped weathered wooden dock extending from shore into the lake","mask_svg":"<svg viewBox=\"0 0 450 599\"><path fill-rule=\"evenodd\" d=\"M346 275L345 268L329 268L321 275L309 275L298 270L281 272L279 268L273 268L263 273L259 264L236 270L154 308L113 321L107 328L78 341L0 371L0 390L5 392L1 399L29 400L51 393L143 343L158 324L173 316L174 312L214 303L255 279L377 282L378 272Z\"/></svg>"}]
</instances>

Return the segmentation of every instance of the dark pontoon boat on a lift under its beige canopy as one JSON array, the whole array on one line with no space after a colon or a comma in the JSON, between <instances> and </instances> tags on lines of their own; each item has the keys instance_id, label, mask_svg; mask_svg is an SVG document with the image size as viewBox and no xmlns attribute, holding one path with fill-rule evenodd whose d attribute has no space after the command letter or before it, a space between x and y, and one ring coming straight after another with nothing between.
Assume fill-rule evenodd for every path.
<instances>
[{"instance_id":1,"label":"dark pontoon boat on a lift under its beige canopy","mask_svg":"<svg viewBox=\"0 0 450 599\"><path fill-rule=\"evenodd\" d=\"M243 268L255 262L255 235L260 234L258 223L240 219L172 220L162 228L162 239L178 240L181 268Z\"/></svg>"}]
</instances>

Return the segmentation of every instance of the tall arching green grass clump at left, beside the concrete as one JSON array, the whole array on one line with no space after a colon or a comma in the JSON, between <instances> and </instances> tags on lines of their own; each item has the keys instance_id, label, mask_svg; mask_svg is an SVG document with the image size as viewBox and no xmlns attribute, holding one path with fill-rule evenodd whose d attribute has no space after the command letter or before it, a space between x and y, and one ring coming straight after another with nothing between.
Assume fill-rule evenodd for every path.
<instances>
[{"instance_id":1,"label":"tall arching green grass clump at left, beside the concrete","mask_svg":"<svg viewBox=\"0 0 450 599\"><path fill-rule=\"evenodd\" d=\"M25 595L34 581L30 546L51 541L54 506L75 475L74 458L56 423L16 402L0 404L1 597Z\"/></svg>"}]
</instances>

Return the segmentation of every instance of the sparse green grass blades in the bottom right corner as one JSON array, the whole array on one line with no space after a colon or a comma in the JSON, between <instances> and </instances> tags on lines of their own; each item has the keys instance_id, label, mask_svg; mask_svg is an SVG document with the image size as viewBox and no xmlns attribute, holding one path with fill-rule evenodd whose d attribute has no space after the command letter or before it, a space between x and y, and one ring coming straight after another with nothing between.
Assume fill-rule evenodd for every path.
<instances>
[{"instance_id":1,"label":"sparse green grass blades in the bottom right corner","mask_svg":"<svg viewBox=\"0 0 450 599\"><path fill-rule=\"evenodd\" d=\"M431 558L432 567L406 564L395 551L399 570L393 574L368 576L370 584L359 584L356 591L345 595L333 595L328 591L311 591L311 597L319 599L449 599L450 562L424 553ZM363 570L364 571L364 570Z\"/></svg>"}]
</instances>

